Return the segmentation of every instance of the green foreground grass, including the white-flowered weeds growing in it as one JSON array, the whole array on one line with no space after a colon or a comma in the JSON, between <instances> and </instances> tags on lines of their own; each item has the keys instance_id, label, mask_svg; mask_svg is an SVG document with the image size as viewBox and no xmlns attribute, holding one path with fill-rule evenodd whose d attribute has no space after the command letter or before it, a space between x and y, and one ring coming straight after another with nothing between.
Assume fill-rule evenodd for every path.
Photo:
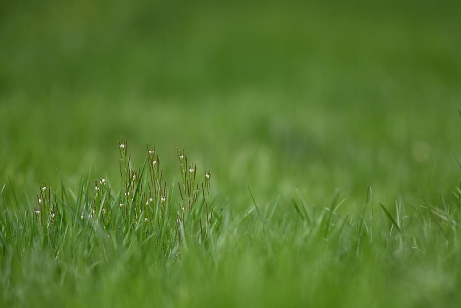
<instances>
[{"instance_id":1,"label":"green foreground grass, including the white-flowered weeds growing in it","mask_svg":"<svg viewBox=\"0 0 461 308\"><path fill-rule=\"evenodd\" d=\"M126 140L119 150L120 186L44 183L24 207L4 185L4 306L459 303L459 189L388 209L369 187L360 211L340 213L339 191L329 207L299 194L292 208L259 209L248 187L253 204L236 211L213 202L210 170L184 149L177 186L163 182L155 146L139 168Z\"/></svg>"}]
</instances>

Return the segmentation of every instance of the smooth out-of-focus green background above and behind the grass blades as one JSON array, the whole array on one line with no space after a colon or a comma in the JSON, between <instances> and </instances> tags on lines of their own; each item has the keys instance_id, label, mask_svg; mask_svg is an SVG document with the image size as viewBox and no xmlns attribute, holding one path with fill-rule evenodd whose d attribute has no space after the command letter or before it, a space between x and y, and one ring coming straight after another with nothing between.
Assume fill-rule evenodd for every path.
<instances>
[{"instance_id":1,"label":"smooth out-of-focus green background above and behind the grass blades","mask_svg":"<svg viewBox=\"0 0 461 308\"><path fill-rule=\"evenodd\" d=\"M218 200L421 202L458 184L456 1L0 2L0 186L118 185L157 143ZM2 183L3 182L3 183ZM291 202L291 201L290 201Z\"/></svg>"}]
</instances>

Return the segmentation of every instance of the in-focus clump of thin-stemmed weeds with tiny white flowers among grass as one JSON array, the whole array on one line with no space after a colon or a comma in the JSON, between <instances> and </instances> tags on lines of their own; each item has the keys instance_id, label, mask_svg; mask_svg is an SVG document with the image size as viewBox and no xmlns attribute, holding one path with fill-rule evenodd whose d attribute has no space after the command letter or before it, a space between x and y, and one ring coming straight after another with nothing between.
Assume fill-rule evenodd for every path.
<instances>
[{"instance_id":1,"label":"in-focus clump of thin-stemmed weeds with tiny white flowers among grass","mask_svg":"<svg viewBox=\"0 0 461 308\"><path fill-rule=\"evenodd\" d=\"M140 242L149 241L163 255L176 257L182 241L195 238L205 243L215 226L213 204L209 204L210 170L197 175L197 164L189 163L184 148L178 150L180 181L175 205L173 188L162 179L155 145L147 145L146 159L137 168L133 167L126 139L119 142L119 150L120 188L113 189L105 178L92 181L92 186L90 181L82 180L78 192L69 198L64 189L59 196L51 184L44 183L33 208L33 223L25 220L23 232L33 229L32 237L43 237L43 243L56 249L69 237L75 239L83 233L90 239L137 238Z\"/></svg>"}]
</instances>

